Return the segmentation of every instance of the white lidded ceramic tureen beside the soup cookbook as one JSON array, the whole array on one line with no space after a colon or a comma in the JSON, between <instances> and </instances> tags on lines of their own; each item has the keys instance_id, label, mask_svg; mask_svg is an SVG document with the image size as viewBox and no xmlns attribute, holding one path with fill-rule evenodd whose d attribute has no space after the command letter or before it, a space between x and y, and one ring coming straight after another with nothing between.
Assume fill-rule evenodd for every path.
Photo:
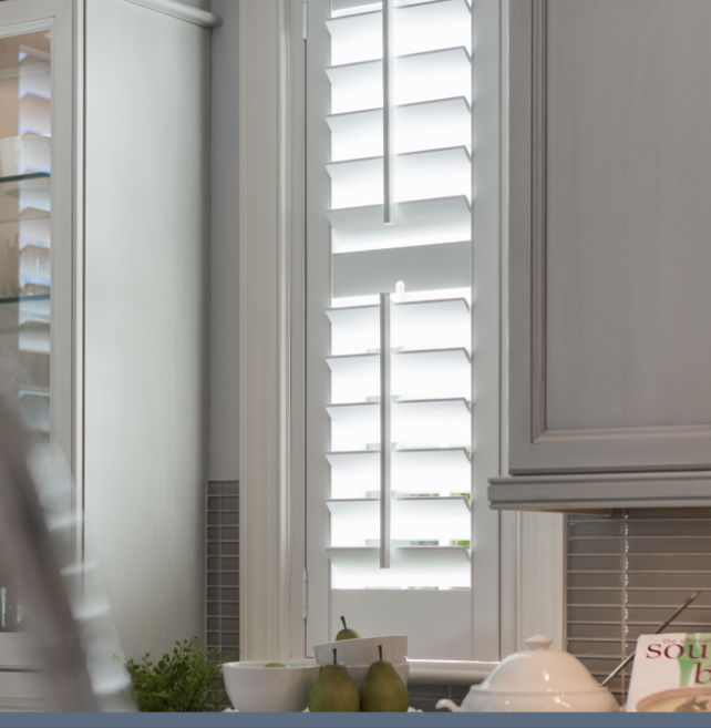
<instances>
[{"instance_id":1,"label":"white lidded ceramic tureen beside the soup cookbook","mask_svg":"<svg viewBox=\"0 0 711 728\"><path fill-rule=\"evenodd\" d=\"M481 687L472 686L462 707L440 700L437 708L464 711L611 712L615 696L569 653L548 649L553 639L535 635L528 649L504 658Z\"/></svg>"}]
</instances>

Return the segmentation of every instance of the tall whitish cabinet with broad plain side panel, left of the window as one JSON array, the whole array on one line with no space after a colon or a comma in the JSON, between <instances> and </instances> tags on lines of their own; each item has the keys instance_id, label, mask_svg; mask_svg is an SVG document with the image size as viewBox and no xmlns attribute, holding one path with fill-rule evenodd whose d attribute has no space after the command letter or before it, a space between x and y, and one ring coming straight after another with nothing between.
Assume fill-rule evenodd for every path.
<instances>
[{"instance_id":1,"label":"tall whitish cabinet with broad plain side panel, left of the window","mask_svg":"<svg viewBox=\"0 0 711 728\"><path fill-rule=\"evenodd\" d=\"M204 632L209 64L217 23L172 0L0 3L0 47L8 41L10 54L0 82L16 79L0 129L14 123L10 134L34 135L39 122L28 120L37 119L51 126L43 132L51 134L43 176L20 172L18 182L8 178L17 171L0 171L0 192L16 188L11 209L0 207L14 215L0 221L0 238L11 233L40 250L41 260L30 263L44 266L48 290L43 299L10 291L16 303L0 307L16 324L18 309L20 319L28 306L42 309L42 326L21 334L24 344L14 339L16 348L44 357L43 378L20 394L39 400L25 410L44 418L40 429L72 465L73 507L83 516L76 553L100 563L132 657L162 654ZM38 33L45 47L28 54L22 39ZM28 58L49 70L34 105L25 103ZM19 121L8 121L19 104ZM19 223L38 208L17 186L38 183L45 245L28 243L34 228Z\"/></svg>"}]
</instances>

